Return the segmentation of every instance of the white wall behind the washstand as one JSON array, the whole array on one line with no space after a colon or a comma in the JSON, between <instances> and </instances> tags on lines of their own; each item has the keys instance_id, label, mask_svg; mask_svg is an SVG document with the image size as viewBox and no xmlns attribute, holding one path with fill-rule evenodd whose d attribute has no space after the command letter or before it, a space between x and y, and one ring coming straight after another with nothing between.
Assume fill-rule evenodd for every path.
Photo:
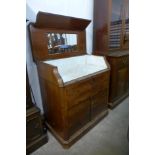
<instances>
[{"instance_id":1,"label":"white wall behind the washstand","mask_svg":"<svg viewBox=\"0 0 155 155\"><path fill-rule=\"evenodd\" d=\"M60 15L93 19L93 0L27 0L26 1L26 18L35 22L38 11L50 12ZM93 39L93 22L86 29L87 53L92 53ZM29 38L27 34L27 69L30 84L34 92L35 100L41 111L42 101L38 82L36 65L33 63Z\"/></svg>"}]
</instances>

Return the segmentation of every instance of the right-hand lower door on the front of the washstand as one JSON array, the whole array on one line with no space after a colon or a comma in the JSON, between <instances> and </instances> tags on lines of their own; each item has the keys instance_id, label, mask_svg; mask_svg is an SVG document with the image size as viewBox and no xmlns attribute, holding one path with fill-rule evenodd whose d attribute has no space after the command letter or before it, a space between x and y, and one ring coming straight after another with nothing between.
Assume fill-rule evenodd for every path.
<instances>
[{"instance_id":1,"label":"right-hand lower door on the front of the washstand","mask_svg":"<svg viewBox=\"0 0 155 155\"><path fill-rule=\"evenodd\" d=\"M101 91L92 97L92 119L108 107L108 90Z\"/></svg>"}]
</instances>

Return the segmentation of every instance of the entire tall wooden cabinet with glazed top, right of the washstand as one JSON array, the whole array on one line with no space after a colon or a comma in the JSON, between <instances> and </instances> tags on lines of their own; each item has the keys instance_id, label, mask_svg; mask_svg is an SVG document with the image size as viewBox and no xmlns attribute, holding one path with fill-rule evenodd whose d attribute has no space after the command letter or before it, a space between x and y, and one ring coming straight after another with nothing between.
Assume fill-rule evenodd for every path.
<instances>
[{"instance_id":1,"label":"entire tall wooden cabinet with glazed top, right of the washstand","mask_svg":"<svg viewBox=\"0 0 155 155\"><path fill-rule=\"evenodd\" d=\"M129 0L94 0L93 50L111 66L109 105L128 95Z\"/></svg>"}]
</instances>

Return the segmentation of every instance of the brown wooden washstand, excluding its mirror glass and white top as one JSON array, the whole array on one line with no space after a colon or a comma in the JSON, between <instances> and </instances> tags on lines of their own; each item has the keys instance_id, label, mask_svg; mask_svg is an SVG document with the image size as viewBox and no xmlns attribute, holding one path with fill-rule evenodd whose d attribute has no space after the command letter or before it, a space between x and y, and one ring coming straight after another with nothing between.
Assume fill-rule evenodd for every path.
<instances>
[{"instance_id":1,"label":"brown wooden washstand, excluding its mirror glass and white top","mask_svg":"<svg viewBox=\"0 0 155 155\"><path fill-rule=\"evenodd\" d=\"M43 60L86 54L85 28L89 23L89 20L40 12L36 23L29 27L46 125L64 148L70 147L107 115L110 67L105 59L107 69L63 83L58 68ZM78 50L48 54L45 33L51 31L76 33Z\"/></svg>"}]
</instances>

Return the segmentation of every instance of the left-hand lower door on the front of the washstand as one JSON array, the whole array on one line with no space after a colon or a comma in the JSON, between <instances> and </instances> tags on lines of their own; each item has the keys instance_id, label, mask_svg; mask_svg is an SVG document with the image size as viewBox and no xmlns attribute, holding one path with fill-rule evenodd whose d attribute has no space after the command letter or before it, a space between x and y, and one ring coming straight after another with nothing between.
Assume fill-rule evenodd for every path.
<instances>
[{"instance_id":1,"label":"left-hand lower door on the front of the washstand","mask_svg":"<svg viewBox=\"0 0 155 155\"><path fill-rule=\"evenodd\" d=\"M90 121L91 101L89 99L68 110L68 132L69 136L82 128Z\"/></svg>"}]
</instances>

